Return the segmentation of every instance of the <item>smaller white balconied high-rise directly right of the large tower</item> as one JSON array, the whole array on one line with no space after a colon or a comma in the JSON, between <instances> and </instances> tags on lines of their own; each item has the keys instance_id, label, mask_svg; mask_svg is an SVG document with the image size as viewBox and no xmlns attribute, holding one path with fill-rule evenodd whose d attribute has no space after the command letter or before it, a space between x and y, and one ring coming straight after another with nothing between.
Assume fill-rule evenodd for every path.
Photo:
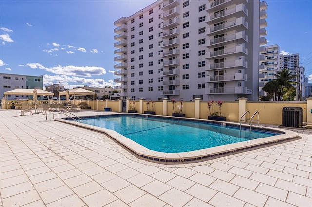
<instances>
[{"instance_id":1,"label":"smaller white balconied high-rise directly right of the large tower","mask_svg":"<svg viewBox=\"0 0 312 207\"><path fill-rule=\"evenodd\" d=\"M278 45L262 46L264 51L260 52L259 67L259 96L266 96L262 88L273 79L280 67L280 49ZM260 47L261 50L261 47Z\"/></svg>"}]
</instances>

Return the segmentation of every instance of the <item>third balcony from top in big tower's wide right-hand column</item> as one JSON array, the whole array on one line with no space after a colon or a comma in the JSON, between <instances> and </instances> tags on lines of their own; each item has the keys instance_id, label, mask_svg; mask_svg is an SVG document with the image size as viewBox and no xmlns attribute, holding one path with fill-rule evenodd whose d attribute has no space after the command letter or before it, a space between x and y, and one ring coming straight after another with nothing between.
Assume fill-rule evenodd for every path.
<instances>
[{"instance_id":1,"label":"third balcony from top in big tower's wide right-hand column","mask_svg":"<svg viewBox=\"0 0 312 207\"><path fill-rule=\"evenodd\" d=\"M245 17L237 18L234 21L225 22L223 24L219 24L217 26L210 27L210 32L206 35L211 35L213 33L219 32L222 30L222 32L228 32L231 30L245 30L248 29L248 22L245 20Z\"/></svg>"}]
</instances>

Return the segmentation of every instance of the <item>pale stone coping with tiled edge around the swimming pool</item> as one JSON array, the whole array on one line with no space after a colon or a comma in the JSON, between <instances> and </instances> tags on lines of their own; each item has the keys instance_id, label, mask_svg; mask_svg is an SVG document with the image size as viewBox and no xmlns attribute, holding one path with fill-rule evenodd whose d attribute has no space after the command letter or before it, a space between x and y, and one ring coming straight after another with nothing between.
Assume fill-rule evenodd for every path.
<instances>
[{"instance_id":1,"label":"pale stone coping with tiled edge around the swimming pool","mask_svg":"<svg viewBox=\"0 0 312 207\"><path fill-rule=\"evenodd\" d=\"M239 128L239 124L227 121L210 121L204 119L195 119L195 118L180 118L180 117L171 117L171 116L161 116L161 115L145 115L145 114L132 114L132 113L117 113L117 114L109 114L109 115L96 115L96 116L83 116L81 118L96 118L96 117L110 117L110 116L139 116L139 117L159 117L164 119L175 119L175 120L188 120L188 121L199 121L199 122L207 122L213 123L217 125L227 125L227 126L234 126ZM182 153L164 153L164 152L157 152L154 150L150 150L137 142L117 133L111 129L105 129L98 126L92 126L89 124L70 121L70 118L62 118L62 119L55 119L55 121L60 121L67 124L72 124L78 127L90 129L93 131L97 131L107 135L108 137L112 138L113 140L117 141L120 145L134 153L139 157L143 157L145 159L153 160L153 161L161 161L161 162L186 162L186 161L193 161L198 159L204 159L216 155L224 155L227 153L232 153L238 150L246 150L249 148L254 148L262 145L267 145L271 143L277 143L280 141L286 141L294 138L298 138L299 134L293 131L285 130L285 129L276 129L271 127L261 127L261 126L252 126L252 129L255 130L267 130L272 132L283 133L279 135L274 135L266 138L257 138L253 140L237 142L233 144L221 145L201 150L189 151L189 152L182 152ZM243 129L249 129L249 125L242 124Z\"/></svg>"}]
</instances>

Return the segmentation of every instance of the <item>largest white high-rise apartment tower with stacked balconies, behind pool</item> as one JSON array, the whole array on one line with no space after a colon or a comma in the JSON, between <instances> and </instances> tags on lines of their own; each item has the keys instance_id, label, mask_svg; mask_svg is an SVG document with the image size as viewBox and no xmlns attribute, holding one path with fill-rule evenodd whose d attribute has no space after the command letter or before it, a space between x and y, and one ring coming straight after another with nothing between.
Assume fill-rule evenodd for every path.
<instances>
[{"instance_id":1,"label":"largest white high-rise apartment tower with stacked balconies, behind pool","mask_svg":"<svg viewBox=\"0 0 312 207\"><path fill-rule=\"evenodd\" d=\"M259 0L158 0L118 19L122 96L258 100L266 9Z\"/></svg>"}]
</instances>

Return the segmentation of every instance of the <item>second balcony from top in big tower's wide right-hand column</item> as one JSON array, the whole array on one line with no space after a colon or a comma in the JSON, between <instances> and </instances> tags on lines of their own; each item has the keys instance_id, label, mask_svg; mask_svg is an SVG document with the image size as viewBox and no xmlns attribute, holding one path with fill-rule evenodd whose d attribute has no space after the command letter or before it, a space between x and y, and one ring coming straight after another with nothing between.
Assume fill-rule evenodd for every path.
<instances>
[{"instance_id":1,"label":"second balcony from top in big tower's wide right-hand column","mask_svg":"<svg viewBox=\"0 0 312 207\"><path fill-rule=\"evenodd\" d=\"M210 18L208 19L207 23L209 24L214 24L216 22L220 22L232 17L242 17L248 16L248 9L246 9L246 5L245 4L238 4L235 5L232 8L228 8L227 10L215 13L213 15L210 15Z\"/></svg>"}]
</instances>

